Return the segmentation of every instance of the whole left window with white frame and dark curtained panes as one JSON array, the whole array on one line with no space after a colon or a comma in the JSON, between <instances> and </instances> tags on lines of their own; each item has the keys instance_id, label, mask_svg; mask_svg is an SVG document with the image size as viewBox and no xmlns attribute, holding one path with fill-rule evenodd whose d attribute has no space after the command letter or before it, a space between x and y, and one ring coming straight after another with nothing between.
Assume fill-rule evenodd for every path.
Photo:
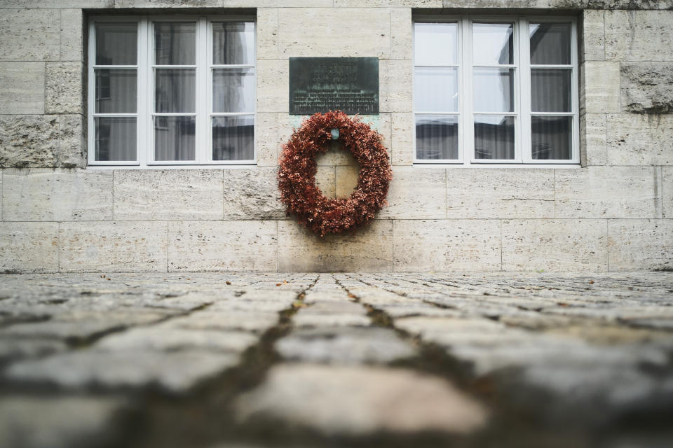
<instances>
[{"instance_id":1,"label":"whole left window with white frame and dark curtained panes","mask_svg":"<svg viewBox=\"0 0 673 448\"><path fill-rule=\"evenodd\" d=\"M254 22L93 18L89 165L254 163Z\"/></svg>"}]
</instances>

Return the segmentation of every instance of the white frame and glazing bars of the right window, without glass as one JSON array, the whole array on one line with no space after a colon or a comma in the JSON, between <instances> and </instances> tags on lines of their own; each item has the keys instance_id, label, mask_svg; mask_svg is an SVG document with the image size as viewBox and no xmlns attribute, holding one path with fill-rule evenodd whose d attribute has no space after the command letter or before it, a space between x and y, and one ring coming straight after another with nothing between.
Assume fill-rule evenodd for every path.
<instances>
[{"instance_id":1,"label":"white frame and glazing bars of the right window, without glass","mask_svg":"<svg viewBox=\"0 0 673 448\"><path fill-rule=\"evenodd\" d=\"M458 26L458 158L457 159L419 159L416 153L416 116L430 111L416 112L414 102L412 140L414 165L446 165L447 167L576 167L580 163L580 129L579 129L579 63L578 63L578 31L577 18L572 16L550 15L418 15L414 16L412 39L416 38L416 23L456 23ZM474 151L474 111L473 111L473 61L472 61L472 23L473 22L512 22L514 25L514 64L493 64L502 68L515 69L515 111L513 113L493 113L494 115L515 116L515 158L512 160L476 159ZM530 63L529 24L545 22L571 23L571 64L537 66ZM415 85L416 52L412 40L412 85ZM421 65L419 65L421 66ZM428 65L422 65L428 66ZM443 65L438 65L443 66ZM453 65L451 65L453 66ZM477 66L487 66L480 64ZM531 111L531 68L566 68L572 70L571 75L571 112L533 113ZM415 94L415 92L414 92ZM435 112L442 113L442 112ZM456 115L455 112L444 113ZM531 148L531 116L571 116L572 124L572 158L569 160L533 160Z\"/></svg>"}]
</instances>

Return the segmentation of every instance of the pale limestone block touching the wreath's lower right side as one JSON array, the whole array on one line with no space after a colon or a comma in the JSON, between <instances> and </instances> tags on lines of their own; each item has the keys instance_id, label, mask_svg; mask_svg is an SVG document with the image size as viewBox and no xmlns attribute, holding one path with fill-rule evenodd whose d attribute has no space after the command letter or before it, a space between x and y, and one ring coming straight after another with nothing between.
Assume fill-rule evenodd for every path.
<instances>
[{"instance_id":1,"label":"pale limestone block touching the wreath's lower right side","mask_svg":"<svg viewBox=\"0 0 673 448\"><path fill-rule=\"evenodd\" d=\"M447 170L428 167L393 167L388 206L381 218L433 219L446 217Z\"/></svg>"}]
</instances>

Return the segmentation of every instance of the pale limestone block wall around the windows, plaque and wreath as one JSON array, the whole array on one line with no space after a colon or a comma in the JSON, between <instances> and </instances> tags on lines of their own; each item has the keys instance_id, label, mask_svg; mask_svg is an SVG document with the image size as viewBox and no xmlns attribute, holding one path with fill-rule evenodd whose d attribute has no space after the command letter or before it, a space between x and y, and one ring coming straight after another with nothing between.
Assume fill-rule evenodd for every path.
<instances>
[{"instance_id":1,"label":"pale limestone block wall around the windows, plaque and wreath","mask_svg":"<svg viewBox=\"0 0 673 448\"><path fill-rule=\"evenodd\" d=\"M87 169L87 15L172 8L256 13L257 166ZM413 165L412 15L473 8L580 18L581 167ZM671 29L671 0L0 0L0 272L673 269ZM379 57L365 120L394 180L355 235L278 202L296 56ZM327 195L353 188L344 154L319 165Z\"/></svg>"}]
</instances>

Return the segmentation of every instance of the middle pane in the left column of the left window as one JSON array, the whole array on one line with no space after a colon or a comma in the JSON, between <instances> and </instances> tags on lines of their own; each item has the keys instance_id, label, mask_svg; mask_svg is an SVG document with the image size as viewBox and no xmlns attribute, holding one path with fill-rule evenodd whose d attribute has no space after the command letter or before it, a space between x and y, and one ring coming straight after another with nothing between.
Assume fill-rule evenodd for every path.
<instances>
[{"instance_id":1,"label":"middle pane in the left column of the left window","mask_svg":"<svg viewBox=\"0 0 673 448\"><path fill-rule=\"evenodd\" d=\"M96 113L135 113L137 91L135 69L96 69Z\"/></svg>"}]
</instances>

